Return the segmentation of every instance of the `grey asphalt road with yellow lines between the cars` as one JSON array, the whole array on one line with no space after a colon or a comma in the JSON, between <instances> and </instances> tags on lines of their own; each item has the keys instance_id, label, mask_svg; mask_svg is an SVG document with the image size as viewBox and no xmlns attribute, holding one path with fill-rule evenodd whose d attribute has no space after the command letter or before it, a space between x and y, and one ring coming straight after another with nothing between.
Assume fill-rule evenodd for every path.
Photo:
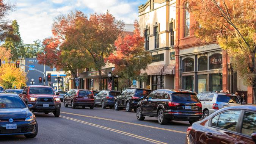
<instances>
[{"instance_id":1,"label":"grey asphalt road with yellow lines between the cars","mask_svg":"<svg viewBox=\"0 0 256 144\"><path fill-rule=\"evenodd\" d=\"M40 144L183 144L189 123L171 121L160 125L157 119L146 117L138 121L136 113L102 108L72 109L61 106L61 116L35 113L38 135L26 139L23 135L0 136L0 143Z\"/></svg>"}]
</instances>

